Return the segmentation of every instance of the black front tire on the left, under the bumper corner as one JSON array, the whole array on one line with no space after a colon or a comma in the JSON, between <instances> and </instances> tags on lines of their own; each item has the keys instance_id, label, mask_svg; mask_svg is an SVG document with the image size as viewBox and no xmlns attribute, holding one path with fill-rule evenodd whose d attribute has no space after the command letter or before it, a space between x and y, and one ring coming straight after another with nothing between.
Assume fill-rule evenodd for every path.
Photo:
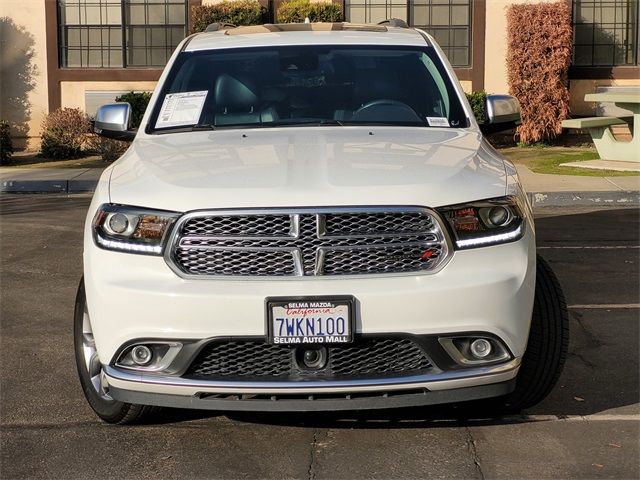
<instances>
[{"instance_id":1,"label":"black front tire on the left, under the bumper corner","mask_svg":"<svg viewBox=\"0 0 640 480\"><path fill-rule=\"evenodd\" d=\"M83 317L86 309L86 296L84 292L84 279L80 280L78 293L76 295L76 305L73 321L73 344L76 357L76 367L82 391L87 402L94 412L107 423L117 423L120 425L140 422L143 417L155 411L157 407L145 405L133 405L119 402L112 398L105 398L100 395L89 375L89 370L85 363L83 348Z\"/></svg>"}]
</instances>

